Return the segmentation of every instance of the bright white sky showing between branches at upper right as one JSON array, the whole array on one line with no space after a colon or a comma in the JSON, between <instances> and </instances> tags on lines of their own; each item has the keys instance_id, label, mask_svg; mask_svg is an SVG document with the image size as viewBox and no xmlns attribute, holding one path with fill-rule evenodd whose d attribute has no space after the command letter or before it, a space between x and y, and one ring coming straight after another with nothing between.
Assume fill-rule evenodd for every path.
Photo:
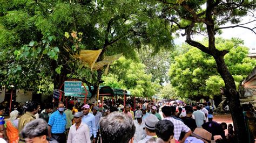
<instances>
[{"instance_id":1,"label":"bright white sky showing between branches at upper right","mask_svg":"<svg viewBox=\"0 0 256 143\"><path fill-rule=\"evenodd\" d=\"M256 13L256 12L255 12ZM252 20L250 17L245 17L243 18L241 24L250 22ZM224 25L224 26L232 26L230 23ZM247 27L256 27L256 22L247 24L247 25L242 25L242 26L247 26ZM223 27L223 26L222 26ZM235 28L227 28L222 30L223 33L221 35L217 35L217 37L223 37L225 39L231 39L232 37L237 37L245 42L245 46L252 49L256 48L256 34L254 34L252 31L246 29L246 28L241 28L241 27L235 27ZM256 31L254 29L254 31ZM184 31L181 31L181 33L184 33ZM203 36L194 36L194 40L201 40L203 39ZM180 36L177 39L174 39L174 43L180 45L181 43L185 42L186 37ZM250 50L251 51L251 50Z\"/></svg>"}]
</instances>

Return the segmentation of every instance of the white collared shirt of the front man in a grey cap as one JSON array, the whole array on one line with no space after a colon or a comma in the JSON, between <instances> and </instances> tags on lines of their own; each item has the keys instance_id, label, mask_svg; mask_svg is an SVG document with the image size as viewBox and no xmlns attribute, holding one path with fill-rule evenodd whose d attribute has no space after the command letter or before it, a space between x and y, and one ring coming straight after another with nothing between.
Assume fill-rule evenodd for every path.
<instances>
[{"instance_id":1,"label":"white collared shirt of the front man in a grey cap","mask_svg":"<svg viewBox=\"0 0 256 143\"><path fill-rule=\"evenodd\" d=\"M68 143L91 142L90 130L86 124L81 123L78 128L73 124L69 129Z\"/></svg>"}]
</instances>

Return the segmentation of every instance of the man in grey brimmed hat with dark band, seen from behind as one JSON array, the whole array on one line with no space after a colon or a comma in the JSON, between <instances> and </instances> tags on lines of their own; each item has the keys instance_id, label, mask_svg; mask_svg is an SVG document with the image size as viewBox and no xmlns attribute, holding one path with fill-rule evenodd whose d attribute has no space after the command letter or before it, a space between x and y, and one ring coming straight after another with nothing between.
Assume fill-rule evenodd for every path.
<instances>
[{"instance_id":1,"label":"man in grey brimmed hat with dark band, seen from behind","mask_svg":"<svg viewBox=\"0 0 256 143\"><path fill-rule=\"evenodd\" d=\"M145 130L146 130L146 138L143 140L140 140L138 143L144 143L148 140L150 140L153 136L156 136L156 131L154 130L154 126L158 123L158 119L156 116L150 114L145 119Z\"/></svg>"}]
</instances>

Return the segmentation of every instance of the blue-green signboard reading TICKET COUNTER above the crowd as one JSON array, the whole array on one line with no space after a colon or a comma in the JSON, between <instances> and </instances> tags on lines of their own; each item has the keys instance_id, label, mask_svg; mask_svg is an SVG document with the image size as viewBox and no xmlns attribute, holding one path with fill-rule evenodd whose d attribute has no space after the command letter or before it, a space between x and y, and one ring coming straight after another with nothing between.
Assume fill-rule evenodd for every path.
<instances>
[{"instance_id":1,"label":"blue-green signboard reading TICKET COUNTER above the crowd","mask_svg":"<svg viewBox=\"0 0 256 143\"><path fill-rule=\"evenodd\" d=\"M64 92L70 94L81 94L82 93L82 81L65 81Z\"/></svg>"}]
</instances>

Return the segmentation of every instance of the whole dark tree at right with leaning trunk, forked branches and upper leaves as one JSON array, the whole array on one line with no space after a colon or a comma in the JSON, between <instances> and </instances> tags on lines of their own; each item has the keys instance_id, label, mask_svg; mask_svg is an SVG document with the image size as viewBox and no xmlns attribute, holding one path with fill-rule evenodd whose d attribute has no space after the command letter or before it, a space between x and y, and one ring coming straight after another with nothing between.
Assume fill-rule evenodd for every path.
<instances>
[{"instance_id":1,"label":"whole dark tree at right with leaning trunk, forked branches and upper leaves","mask_svg":"<svg viewBox=\"0 0 256 143\"><path fill-rule=\"evenodd\" d=\"M224 28L242 27L255 33L255 28L247 27L246 24L255 22L252 19L247 23L239 24L241 17L251 13L255 18L254 1L161 1L163 4L164 19L170 22L170 25L176 30L185 30L181 34L186 36L187 44L197 47L206 54L213 56L217 71L223 78L225 88L223 94L229 101L231 115L234 123L234 129L237 133L237 142L244 142L245 126L244 117L239 101L239 94L235 90L235 82L230 70L224 60L224 56L229 52L226 49L220 49L215 46L215 34L221 33ZM203 5L206 4L206 9ZM223 26L231 23L232 26ZM192 39L194 34L204 34L208 38L207 45L203 45Z\"/></svg>"}]
</instances>

